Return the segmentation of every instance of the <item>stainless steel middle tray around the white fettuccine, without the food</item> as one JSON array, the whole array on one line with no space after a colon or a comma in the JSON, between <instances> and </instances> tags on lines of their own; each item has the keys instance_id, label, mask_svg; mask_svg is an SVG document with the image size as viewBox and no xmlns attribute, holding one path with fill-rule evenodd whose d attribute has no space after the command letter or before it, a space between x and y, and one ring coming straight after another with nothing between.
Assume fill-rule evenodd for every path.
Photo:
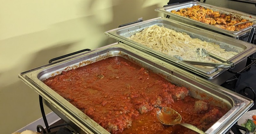
<instances>
[{"instance_id":1,"label":"stainless steel middle tray around the white fettuccine, without the food","mask_svg":"<svg viewBox=\"0 0 256 134\"><path fill-rule=\"evenodd\" d=\"M215 78L220 76L220 74L225 72L227 69L219 68L220 66L210 69L203 69L195 65L183 62L177 58L165 55L159 51L148 48L140 43L137 43L127 38L135 33L142 31L144 28L153 25L164 26L177 32L184 32L190 35L192 38L198 38L203 41L219 44L220 47L224 48L226 51L238 52L238 55L228 59L229 61L235 64L235 68L232 69L232 71L240 71L245 66L245 63L241 61L246 61L246 58L256 51L256 48L250 43L239 41L224 35L213 33L208 30L204 30L198 27L190 26L188 24L180 23L175 20L170 20L166 18L150 19L136 24L116 28L105 33L108 36L117 39L118 41L122 41L125 44L140 49L145 53L155 55L156 58L175 64L183 68L184 70L196 73L197 75L202 76L203 78L208 79L210 81L213 81L214 83L222 84L223 82L228 80L228 78L233 76L233 74L226 74L226 76L229 75L229 77L226 78L226 76L221 76L222 78L216 80Z\"/></svg>"}]
</instances>

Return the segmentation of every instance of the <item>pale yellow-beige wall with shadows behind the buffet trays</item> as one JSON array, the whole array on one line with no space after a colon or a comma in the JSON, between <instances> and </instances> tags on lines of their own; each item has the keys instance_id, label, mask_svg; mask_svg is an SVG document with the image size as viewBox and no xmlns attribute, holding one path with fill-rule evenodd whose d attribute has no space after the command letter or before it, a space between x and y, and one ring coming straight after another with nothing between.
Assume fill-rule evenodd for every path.
<instances>
[{"instance_id":1,"label":"pale yellow-beige wall with shadows behind the buffet trays","mask_svg":"<svg viewBox=\"0 0 256 134\"><path fill-rule=\"evenodd\" d=\"M114 43L105 31L140 17L161 17L154 10L165 4L167 0L1 0L0 133L41 118L38 94L19 73L57 56Z\"/></svg>"}]
</instances>

